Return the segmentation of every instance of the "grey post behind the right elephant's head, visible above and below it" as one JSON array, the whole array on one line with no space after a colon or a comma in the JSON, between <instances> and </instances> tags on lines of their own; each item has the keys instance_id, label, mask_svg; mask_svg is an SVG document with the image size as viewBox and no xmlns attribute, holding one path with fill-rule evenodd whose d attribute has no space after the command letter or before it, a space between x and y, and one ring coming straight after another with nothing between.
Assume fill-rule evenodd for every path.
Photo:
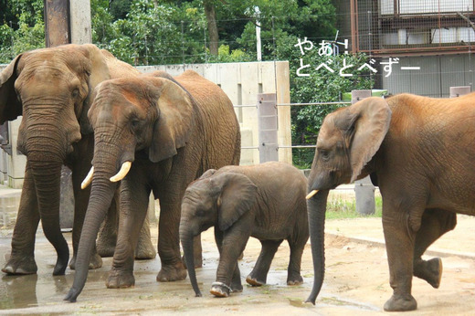
<instances>
[{"instance_id":1,"label":"grey post behind the right elephant's head, visible above and below it","mask_svg":"<svg viewBox=\"0 0 475 316\"><path fill-rule=\"evenodd\" d=\"M371 97L371 90L353 90L352 104L368 97ZM371 183L369 176L354 182L354 195L356 212L363 215L375 214L375 185Z\"/></svg>"}]
</instances>

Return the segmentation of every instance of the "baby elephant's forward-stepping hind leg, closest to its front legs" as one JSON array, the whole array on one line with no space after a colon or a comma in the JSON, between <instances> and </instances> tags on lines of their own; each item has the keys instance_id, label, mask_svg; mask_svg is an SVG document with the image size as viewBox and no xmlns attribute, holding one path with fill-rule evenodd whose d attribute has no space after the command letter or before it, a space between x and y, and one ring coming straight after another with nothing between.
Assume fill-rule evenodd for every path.
<instances>
[{"instance_id":1,"label":"baby elephant's forward-stepping hind leg, closest to its front legs","mask_svg":"<svg viewBox=\"0 0 475 316\"><path fill-rule=\"evenodd\" d=\"M260 250L259 258L256 261L254 269L249 273L246 281L248 284L256 287L260 287L267 282L267 275L269 273L270 264L274 258L277 249L282 243L280 240L260 240L262 248Z\"/></svg>"}]
</instances>

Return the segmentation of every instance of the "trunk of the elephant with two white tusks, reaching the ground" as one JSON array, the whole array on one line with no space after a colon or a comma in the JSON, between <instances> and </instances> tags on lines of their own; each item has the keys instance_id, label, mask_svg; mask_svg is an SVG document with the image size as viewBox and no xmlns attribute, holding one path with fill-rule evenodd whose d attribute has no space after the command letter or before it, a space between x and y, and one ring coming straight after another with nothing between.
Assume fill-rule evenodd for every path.
<instances>
[{"instance_id":1,"label":"trunk of the elephant with two white tusks, reaching the ground","mask_svg":"<svg viewBox=\"0 0 475 316\"><path fill-rule=\"evenodd\" d=\"M100 224L107 215L117 188L117 184L110 181L110 177L117 171L115 161L111 159L110 155L107 155L107 158L100 158L100 156L103 155L95 154L94 157L94 176L90 190L90 202L79 239L74 282L65 298L65 300L71 302L76 301L84 288L88 277L90 256L94 250Z\"/></svg>"}]
</instances>

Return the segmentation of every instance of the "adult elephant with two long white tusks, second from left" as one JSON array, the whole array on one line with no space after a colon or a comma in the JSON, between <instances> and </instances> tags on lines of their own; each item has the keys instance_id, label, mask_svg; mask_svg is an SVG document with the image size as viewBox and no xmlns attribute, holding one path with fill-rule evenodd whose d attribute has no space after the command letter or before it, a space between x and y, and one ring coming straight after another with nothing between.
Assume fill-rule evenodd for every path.
<instances>
[{"instance_id":1,"label":"adult elephant with two long white tusks, second from left","mask_svg":"<svg viewBox=\"0 0 475 316\"><path fill-rule=\"evenodd\" d=\"M123 179L121 216L107 287L126 288L135 282L132 255L151 191L161 209L162 268L156 279L185 279L178 228L186 186L207 169L237 164L240 156L239 124L231 101L195 71L174 79L158 72L108 80L96 91L89 111L96 142L93 169L84 182L92 182L90 204L74 283L65 298L69 301L76 301L86 282L90 251L116 181Z\"/></svg>"}]
</instances>

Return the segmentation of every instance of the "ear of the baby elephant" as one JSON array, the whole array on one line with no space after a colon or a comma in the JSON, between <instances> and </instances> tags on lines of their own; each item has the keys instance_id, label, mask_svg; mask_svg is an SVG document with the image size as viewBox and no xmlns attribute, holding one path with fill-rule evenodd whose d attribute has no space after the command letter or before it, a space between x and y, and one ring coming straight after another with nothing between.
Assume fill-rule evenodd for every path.
<instances>
[{"instance_id":1,"label":"ear of the baby elephant","mask_svg":"<svg viewBox=\"0 0 475 316\"><path fill-rule=\"evenodd\" d=\"M213 177L213 181L221 188L217 224L225 231L256 203L258 187L244 174L222 173Z\"/></svg>"}]
</instances>

